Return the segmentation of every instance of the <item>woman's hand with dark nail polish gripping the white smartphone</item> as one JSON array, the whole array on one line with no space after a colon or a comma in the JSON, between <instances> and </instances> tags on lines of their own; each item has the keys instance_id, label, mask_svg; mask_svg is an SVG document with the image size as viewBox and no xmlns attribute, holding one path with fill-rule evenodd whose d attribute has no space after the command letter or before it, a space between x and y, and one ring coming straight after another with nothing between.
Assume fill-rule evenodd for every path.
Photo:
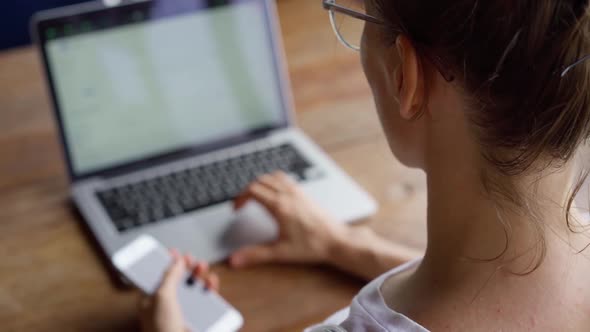
<instances>
[{"instance_id":1,"label":"woman's hand with dark nail polish gripping the white smartphone","mask_svg":"<svg viewBox=\"0 0 590 332\"><path fill-rule=\"evenodd\" d=\"M190 256L181 257L172 251L174 263L166 272L156 293L142 296L139 301L139 318L143 332L185 332L184 318L177 298L177 289L186 278L186 271L192 271L195 278L205 281L209 289L217 291L219 278L209 273L206 263L196 263Z\"/></svg>"}]
</instances>

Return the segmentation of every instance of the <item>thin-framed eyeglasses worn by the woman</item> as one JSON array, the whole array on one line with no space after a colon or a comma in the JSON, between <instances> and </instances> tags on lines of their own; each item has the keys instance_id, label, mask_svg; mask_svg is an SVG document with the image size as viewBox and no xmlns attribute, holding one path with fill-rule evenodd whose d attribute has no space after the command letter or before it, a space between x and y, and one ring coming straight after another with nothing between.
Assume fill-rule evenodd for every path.
<instances>
[{"instance_id":1,"label":"thin-framed eyeglasses worn by the woman","mask_svg":"<svg viewBox=\"0 0 590 332\"><path fill-rule=\"evenodd\" d=\"M344 4L346 3L346 4ZM397 35L404 33L399 28L389 26L385 21L367 14L364 0L323 0L324 9L329 12L330 23L336 34L336 38L346 47L360 51L361 40L365 22L386 27ZM433 54L426 46L415 43L415 47L438 69L447 82L455 80L455 75L449 71L443 60Z\"/></svg>"}]
</instances>

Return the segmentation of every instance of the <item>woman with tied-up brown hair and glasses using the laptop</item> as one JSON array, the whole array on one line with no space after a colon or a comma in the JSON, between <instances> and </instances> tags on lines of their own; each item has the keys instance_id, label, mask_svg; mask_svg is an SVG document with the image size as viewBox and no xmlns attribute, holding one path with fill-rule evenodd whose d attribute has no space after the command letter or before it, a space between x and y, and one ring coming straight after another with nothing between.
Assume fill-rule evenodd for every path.
<instances>
[{"instance_id":1,"label":"woman with tied-up brown hair and glasses using the laptop","mask_svg":"<svg viewBox=\"0 0 590 332\"><path fill-rule=\"evenodd\" d=\"M236 207L265 205L280 239L241 250L231 264L323 262L368 279L385 273L354 299L341 324L348 331L590 329L590 239L573 206L590 136L587 1L324 5L367 22L362 63L391 150L427 174L426 253L386 272L410 254L331 222L275 174ZM164 290L177 282L180 261ZM164 316L144 316L146 326L181 331L167 294L150 306Z\"/></svg>"}]
</instances>

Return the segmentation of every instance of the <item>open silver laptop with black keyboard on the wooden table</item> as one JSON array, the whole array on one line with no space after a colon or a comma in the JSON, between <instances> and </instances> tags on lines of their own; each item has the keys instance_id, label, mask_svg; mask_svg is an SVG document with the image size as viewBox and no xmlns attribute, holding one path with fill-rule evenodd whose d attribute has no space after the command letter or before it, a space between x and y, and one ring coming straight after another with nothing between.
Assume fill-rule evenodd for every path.
<instances>
[{"instance_id":1,"label":"open silver laptop with black keyboard on the wooden table","mask_svg":"<svg viewBox=\"0 0 590 332\"><path fill-rule=\"evenodd\" d=\"M232 200L278 170L339 222L375 213L294 124L274 1L90 2L32 31L73 202L109 257L140 234L212 262L274 239Z\"/></svg>"}]
</instances>

